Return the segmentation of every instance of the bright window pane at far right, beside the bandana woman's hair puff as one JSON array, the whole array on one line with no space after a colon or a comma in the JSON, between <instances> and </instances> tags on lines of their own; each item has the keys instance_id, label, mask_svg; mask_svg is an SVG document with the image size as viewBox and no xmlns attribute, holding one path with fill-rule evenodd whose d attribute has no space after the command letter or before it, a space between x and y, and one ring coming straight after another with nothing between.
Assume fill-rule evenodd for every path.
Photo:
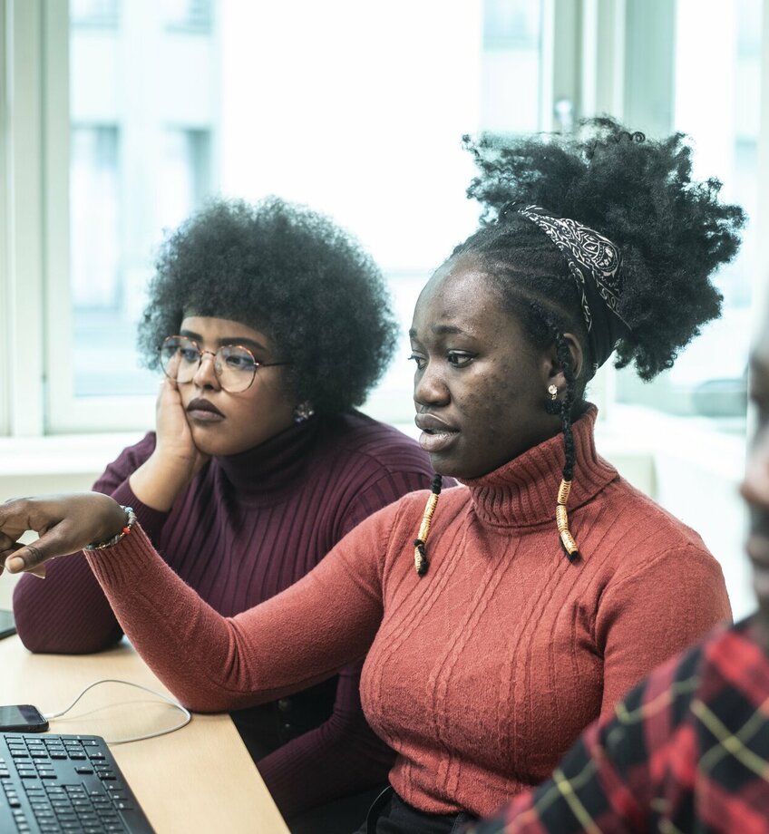
<instances>
[{"instance_id":1,"label":"bright window pane at far right, beside the bandana woman's hair puff","mask_svg":"<svg viewBox=\"0 0 769 834\"><path fill-rule=\"evenodd\" d=\"M745 434L746 365L751 298L758 264L758 131L761 110L761 0L703 4L678 0L674 10L675 67L668 118L660 131L679 130L695 143L695 174L724 182L723 199L745 208L749 222L735 261L715 283L724 296L721 318L684 350L676 365L651 385L618 374L618 402L712 420ZM656 38L658 32L648 33ZM718 60L713 56L717 54ZM636 83L640 83L636 80Z\"/></svg>"}]
</instances>

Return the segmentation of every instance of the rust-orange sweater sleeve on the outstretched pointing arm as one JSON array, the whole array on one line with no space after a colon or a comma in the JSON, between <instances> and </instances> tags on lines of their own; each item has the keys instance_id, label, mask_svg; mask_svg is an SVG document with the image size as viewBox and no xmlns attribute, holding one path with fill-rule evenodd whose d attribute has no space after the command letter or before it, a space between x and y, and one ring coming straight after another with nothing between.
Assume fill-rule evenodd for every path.
<instances>
[{"instance_id":1,"label":"rust-orange sweater sleeve on the outstretched pointing arm","mask_svg":"<svg viewBox=\"0 0 769 834\"><path fill-rule=\"evenodd\" d=\"M234 617L185 585L140 525L86 558L170 691L198 712L237 710L306 689L365 655L382 619L380 563L396 509L366 519L295 585Z\"/></svg>"}]
</instances>

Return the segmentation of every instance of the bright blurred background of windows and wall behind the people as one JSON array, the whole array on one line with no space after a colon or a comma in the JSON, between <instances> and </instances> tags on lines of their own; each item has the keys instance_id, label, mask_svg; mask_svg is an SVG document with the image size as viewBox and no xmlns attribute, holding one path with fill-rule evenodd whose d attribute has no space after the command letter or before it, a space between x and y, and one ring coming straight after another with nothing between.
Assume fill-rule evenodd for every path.
<instances>
[{"instance_id":1,"label":"bright blurred background of windows and wall behind the people","mask_svg":"<svg viewBox=\"0 0 769 834\"><path fill-rule=\"evenodd\" d=\"M749 613L736 484L769 267L768 16L769 0L0 0L0 499L88 489L152 428L144 287L212 194L307 203L361 239L404 334L364 410L415 433L405 331L478 219L462 134L610 113L689 134L696 174L751 219L717 276L721 320L654 383L605 368L589 392L599 450L702 534Z\"/></svg>"}]
</instances>

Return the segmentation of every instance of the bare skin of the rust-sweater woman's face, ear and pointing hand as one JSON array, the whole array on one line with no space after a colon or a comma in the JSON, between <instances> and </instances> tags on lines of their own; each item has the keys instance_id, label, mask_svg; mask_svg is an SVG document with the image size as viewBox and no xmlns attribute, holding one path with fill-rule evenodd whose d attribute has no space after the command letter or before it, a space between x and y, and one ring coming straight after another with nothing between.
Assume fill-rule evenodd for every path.
<instances>
[{"instance_id":1,"label":"bare skin of the rust-sweater woman's face, ear and pointing hand","mask_svg":"<svg viewBox=\"0 0 769 834\"><path fill-rule=\"evenodd\" d=\"M415 419L437 472L477 478L560 432L560 418L545 408L549 386L560 396L566 386L555 347L528 344L474 259L450 259L435 273L411 336ZM579 343L566 339L579 374ZM7 558L12 573L38 572L46 559L112 538L124 523L119 505L94 493L11 501L0 507L0 563ZM15 545L28 529L44 536Z\"/></svg>"}]
</instances>

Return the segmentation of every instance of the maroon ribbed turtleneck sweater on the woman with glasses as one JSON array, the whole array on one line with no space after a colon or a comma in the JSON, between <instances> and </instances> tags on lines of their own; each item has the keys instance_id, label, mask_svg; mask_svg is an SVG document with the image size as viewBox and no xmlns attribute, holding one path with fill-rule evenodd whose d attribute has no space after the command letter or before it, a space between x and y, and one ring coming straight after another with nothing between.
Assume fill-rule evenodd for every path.
<instances>
[{"instance_id":1,"label":"maroon ribbed turtleneck sweater on the woman with glasses","mask_svg":"<svg viewBox=\"0 0 769 834\"><path fill-rule=\"evenodd\" d=\"M355 412L212 459L164 513L142 504L128 480L154 447L150 433L123 451L94 490L135 509L167 564L224 616L295 583L356 524L432 477L414 441ZM83 558L57 559L44 581L23 577L14 610L34 652L95 652L122 636ZM311 691L233 716L249 749L268 753L259 771L285 816L386 780L393 754L365 723L359 675L353 664Z\"/></svg>"}]
</instances>

